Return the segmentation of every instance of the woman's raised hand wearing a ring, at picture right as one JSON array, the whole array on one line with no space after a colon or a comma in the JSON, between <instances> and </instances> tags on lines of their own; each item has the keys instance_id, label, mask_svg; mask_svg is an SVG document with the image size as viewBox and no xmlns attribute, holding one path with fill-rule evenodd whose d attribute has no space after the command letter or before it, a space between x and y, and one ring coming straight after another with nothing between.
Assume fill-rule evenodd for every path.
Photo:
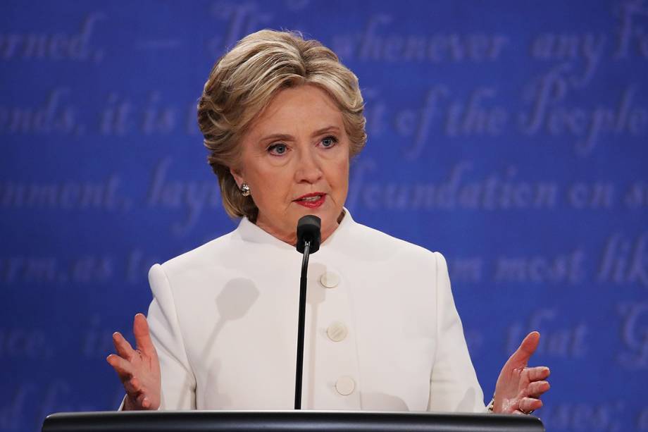
<instances>
[{"instance_id":1,"label":"woman's raised hand wearing a ring, at picture right","mask_svg":"<svg viewBox=\"0 0 648 432\"><path fill-rule=\"evenodd\" d=\"M540 333L533 331L499 373L495 385L493 412L501 414L530 414L542 407L540 395L549 390L545 381L549 376L547 366L527 367L531 355L540 342Z\"/></svg>"}]
</instances>

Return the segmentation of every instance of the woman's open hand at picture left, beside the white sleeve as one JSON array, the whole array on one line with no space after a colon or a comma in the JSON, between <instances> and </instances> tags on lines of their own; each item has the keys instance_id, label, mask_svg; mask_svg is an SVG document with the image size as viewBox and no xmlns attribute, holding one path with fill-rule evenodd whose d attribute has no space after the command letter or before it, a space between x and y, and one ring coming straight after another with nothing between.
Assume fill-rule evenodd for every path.
<instances>
[{"instance_id":1,"label":"woman's open hand at picture left, beside the white sleeve","mask_svg":"<svg viewBox=\"0 0 648 432\"><path fill-rule=\"evenodd\" d=\"M132 349L121 333L115 332L113 343L118 354L110 354L106 361L113 366L126 390L124 410L158 409L161 394L160 362L144 314L135 315L132 331L137 350Z\"/></svg>"}]
</instances>

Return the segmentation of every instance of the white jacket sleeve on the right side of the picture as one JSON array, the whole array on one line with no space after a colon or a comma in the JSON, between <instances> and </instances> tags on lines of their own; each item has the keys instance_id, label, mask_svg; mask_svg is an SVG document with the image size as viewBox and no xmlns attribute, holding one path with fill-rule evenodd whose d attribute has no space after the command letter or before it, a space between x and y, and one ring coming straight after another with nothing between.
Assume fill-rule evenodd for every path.
<instances>
[{"instance_id":1,"label":"white jacket sleeve on the right side of the picture","mask_svg":"<svg viewBox=\"0 0 648 432\"><path fill-rule=\"evenodd\" d=\"M485 412L484 394L471 362L450 288L448 267L435 252L437 267L437 352L430 375L428 411Z\"/></svg>"}]
</instances>

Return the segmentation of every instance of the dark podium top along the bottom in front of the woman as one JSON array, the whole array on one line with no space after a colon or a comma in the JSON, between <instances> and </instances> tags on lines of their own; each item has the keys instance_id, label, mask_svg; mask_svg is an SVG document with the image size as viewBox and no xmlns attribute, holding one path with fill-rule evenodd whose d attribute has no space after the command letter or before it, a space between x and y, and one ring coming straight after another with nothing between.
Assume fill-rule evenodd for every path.
<instances>
[{"instance_id":1,"label":"dark podium top along the bottom in front of the woman","mask_svg":"<svg viewBox=\"0 0 648 432\"><path fill-rule=\"evenodd\" d=\"M533 416L366 411L77 412L46 417L42 432L544 432Z\"/></svg>"}]
</instances>

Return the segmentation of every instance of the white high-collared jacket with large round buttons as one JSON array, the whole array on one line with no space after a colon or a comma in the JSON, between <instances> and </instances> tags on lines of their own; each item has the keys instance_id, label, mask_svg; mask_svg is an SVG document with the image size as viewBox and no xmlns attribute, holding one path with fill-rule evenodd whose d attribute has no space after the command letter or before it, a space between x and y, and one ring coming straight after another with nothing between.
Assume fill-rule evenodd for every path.
<instances>
[{"instance_id":1,"label":"white high-collared jacket with large round buttons","mask_svg":"<svg viewBox=\"0 0 648 432\"><path fill-rule=\"evenodd\" d=\"M244 218L151 268L162 409L292 409L301 257ZM305 334L304 409L485 410L442 255L349 211L311 255Z\"/></svg>"}]
</instances>

